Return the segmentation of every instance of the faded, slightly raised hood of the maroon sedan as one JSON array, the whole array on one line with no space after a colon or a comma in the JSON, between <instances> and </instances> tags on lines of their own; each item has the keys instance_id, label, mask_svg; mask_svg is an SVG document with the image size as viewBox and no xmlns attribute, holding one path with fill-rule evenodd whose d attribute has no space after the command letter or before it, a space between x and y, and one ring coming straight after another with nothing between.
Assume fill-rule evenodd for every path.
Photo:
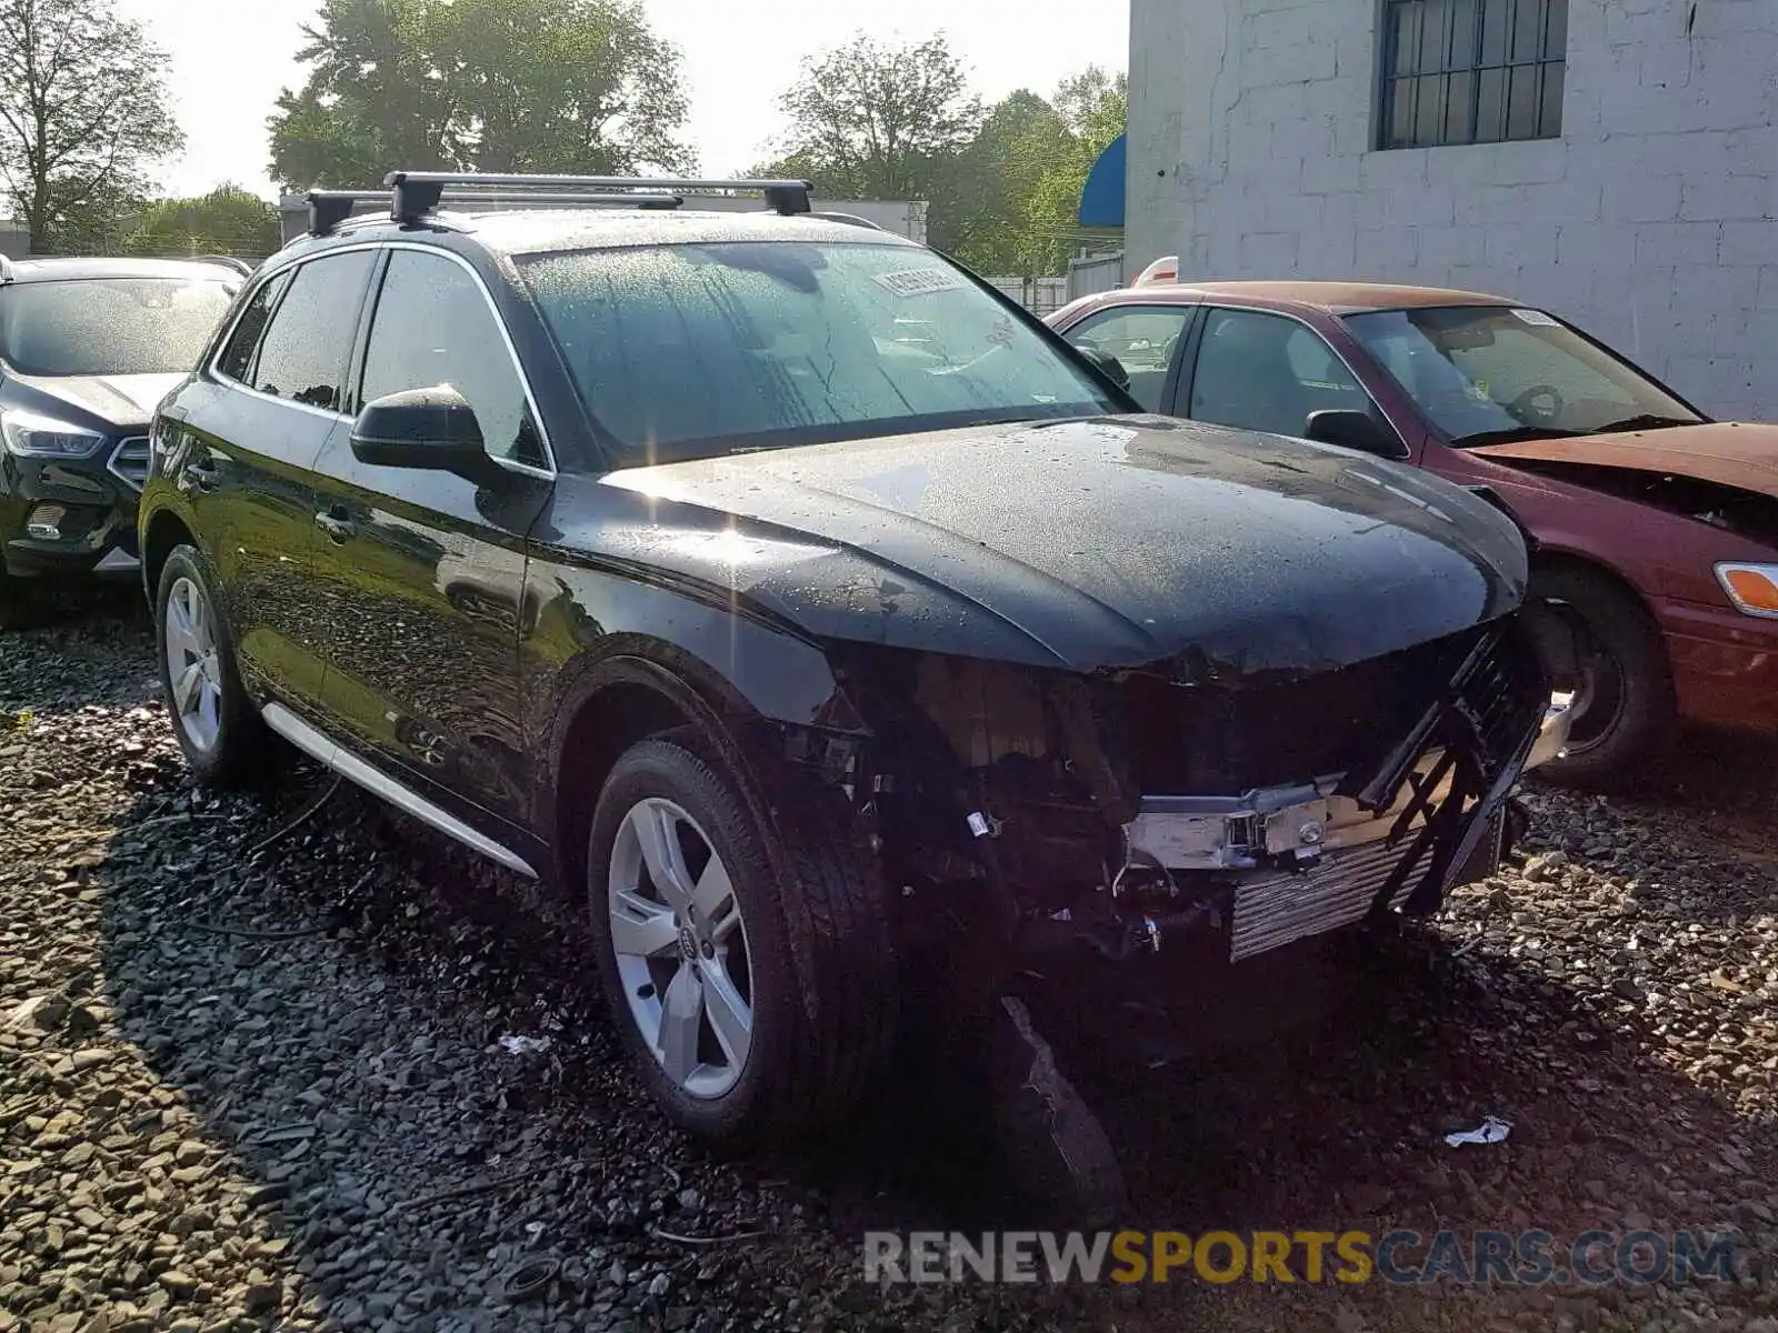
<instances>
[{"instance_id":1,"label":"faded, slightly raised hood of the maroon sedan","mask_svg":"<svg viewBox=\"0 0 1778 1333\"><path fill-rule=\"evenodd\" d=\"M1710 421L1698 427L1630 430L1618 435L1531 439L1470 450L1499 462L1629 467L1778 498L1778 425Z\"/></svg>"}]
</instances>

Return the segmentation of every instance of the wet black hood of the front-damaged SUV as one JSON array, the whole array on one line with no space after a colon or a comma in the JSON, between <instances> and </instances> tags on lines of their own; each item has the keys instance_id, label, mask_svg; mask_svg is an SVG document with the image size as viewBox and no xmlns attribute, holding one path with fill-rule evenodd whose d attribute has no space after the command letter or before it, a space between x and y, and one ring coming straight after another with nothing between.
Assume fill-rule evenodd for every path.
<instances>
[{"instance_id":1,"label":"wet black hood of the front-damaged SUV","mask_svg":"<svg viewBox=\"0 0 1778 1333\"><path fill-rule=\"evenodd\" d=\"M633 521L558 540L642 576L697 579L818 638L1076 672L1325 670L1502 615L1526 587L1518 530L1462 487L1163 418L745 453L596 485L628 492Z\"/></svg>"}]
</instances>

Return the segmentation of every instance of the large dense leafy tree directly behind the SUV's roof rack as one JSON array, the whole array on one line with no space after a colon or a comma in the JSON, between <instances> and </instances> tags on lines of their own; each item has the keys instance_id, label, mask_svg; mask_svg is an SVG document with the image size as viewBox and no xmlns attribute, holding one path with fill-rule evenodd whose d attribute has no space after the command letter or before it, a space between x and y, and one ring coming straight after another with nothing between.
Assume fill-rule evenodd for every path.
<instances>
[{"instance_id":1,"label":"large dense leafy tree directly behind the SUV's roof rack","mask_svg":"<svg viewBox=\"0 0 1778 1333\"><path fill-rule=\"evenodd\" d=\"M685 171L677 50L640 0L325 0L272 116L272 174Z\"/></svg>"}]
</instances>

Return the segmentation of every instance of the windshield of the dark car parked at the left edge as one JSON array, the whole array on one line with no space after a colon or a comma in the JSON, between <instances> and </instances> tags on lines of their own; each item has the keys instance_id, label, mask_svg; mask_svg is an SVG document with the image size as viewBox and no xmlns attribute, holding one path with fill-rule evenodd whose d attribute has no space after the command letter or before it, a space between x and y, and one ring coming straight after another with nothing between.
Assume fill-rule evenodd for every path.
<instances>
[{"instance_id":1,"label":"windshield of the dark car parked at the left edge","mask_svg":"<svg viewBox=\"0 0 1778 1333\"><path fill-rule=\"evenodd\" d=\"M197 364L235 284L82 277L0 288L0 361L20 375L172 375Z\"/></svg>"}]
</instances>

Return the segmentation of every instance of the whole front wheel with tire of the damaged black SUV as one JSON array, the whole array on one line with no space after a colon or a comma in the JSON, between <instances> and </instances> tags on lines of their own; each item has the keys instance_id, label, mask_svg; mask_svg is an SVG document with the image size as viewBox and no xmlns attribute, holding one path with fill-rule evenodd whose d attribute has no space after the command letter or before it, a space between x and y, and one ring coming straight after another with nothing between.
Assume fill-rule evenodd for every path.
<instances>
[{"instance_id":1,"label":"whole front wheel with tire of the damaged black SUV","mask_svg":"<svg viewBox=\"0 0 1778 1333\"><path fill-rule=\"evenodd\" d=\"M612 1022L667 1116L718 1143L845 1116L887 1056L894 1010L887 924L862 860L813 830L793 858L779 855L788 844L756 809L677 732L617 761L589 835ZM773 869L786 864L788 880ZM811 905L820 930L793 949Z\"/></svg>"}]
</instances>

